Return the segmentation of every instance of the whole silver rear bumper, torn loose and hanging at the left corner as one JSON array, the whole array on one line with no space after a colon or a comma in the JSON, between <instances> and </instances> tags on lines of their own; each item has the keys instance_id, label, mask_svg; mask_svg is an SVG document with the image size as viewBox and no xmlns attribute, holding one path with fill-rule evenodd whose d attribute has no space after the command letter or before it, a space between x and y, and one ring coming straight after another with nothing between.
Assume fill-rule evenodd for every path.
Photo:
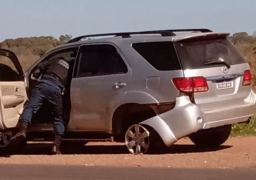
<instances>
[{"instance_id":1,"label":"whole silver rear bumper, torn loose and hanging at the left corner","mask_svg":"<svg viewBox=\"0 0 256 180\"><path fill-rule=\"evenodd\" d=\"M140 124L154 128L166 146L171 146L178 139L200 129L245 122L255 115L256 94L251 91L246 101L245 105L203 112L189 100L188 96L181 96L176 98L176 105L172 110L140 122Z\"/></svg>"}]
</instances>

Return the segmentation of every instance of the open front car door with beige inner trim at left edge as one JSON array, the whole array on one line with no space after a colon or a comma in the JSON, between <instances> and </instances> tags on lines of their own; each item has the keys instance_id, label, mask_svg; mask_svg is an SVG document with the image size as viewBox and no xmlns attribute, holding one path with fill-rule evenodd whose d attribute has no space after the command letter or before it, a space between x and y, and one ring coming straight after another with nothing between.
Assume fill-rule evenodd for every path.
<instances>
[{"instance_id":1,"label":"open front car door with beige inner trim at left edge","mask_svg":"<svg viewBox=\"0 0 256 180\"><path fill-rule=\"evenodd\" d=\"M10 61L13 68L3 64ZM17 56L0 48L0 131L14 128L27 100L24 74Z\"/></svg>"}]
</instances>

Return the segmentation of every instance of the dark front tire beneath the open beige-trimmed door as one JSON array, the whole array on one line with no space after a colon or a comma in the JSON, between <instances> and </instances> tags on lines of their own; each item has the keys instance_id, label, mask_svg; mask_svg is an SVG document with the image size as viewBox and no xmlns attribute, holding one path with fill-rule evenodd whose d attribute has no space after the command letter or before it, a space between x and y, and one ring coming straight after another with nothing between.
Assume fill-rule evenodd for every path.
<instances>
[{"instance_id":1,"label":"dark front tire beneath the open beige-trimmed door","mask_svg":"<svg viewBox=\"0 0 256 180\"><path fill-rule=\"evenodd\" d=\"M26 144L27 144L27 139L24 138L18 138L15 140L12 140L10 142L10 139L13 135L15 135L16 132L12 131L12 132L3 132L0 134L0 136L5 136L7 135L7 143L3 144L3 139L1 139L0 141L0 154L6 154L6 155L12 155L12 154L20 154L21 151L25 148Z\"/></svg>"}]
</instances>

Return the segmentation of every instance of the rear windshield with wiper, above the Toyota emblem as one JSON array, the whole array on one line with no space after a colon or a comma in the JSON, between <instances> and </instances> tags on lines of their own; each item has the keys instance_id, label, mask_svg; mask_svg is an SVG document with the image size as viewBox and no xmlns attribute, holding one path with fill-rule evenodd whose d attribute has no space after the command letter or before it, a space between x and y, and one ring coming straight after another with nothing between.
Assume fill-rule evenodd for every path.
<instances>
[{"instance_id":1,"label":"rear windshield with wiper, above the Toyota emblem","mask_svg":"<svg viewBox=\"0 0 256 180\"><path fill-rule=\"evenodd\" d=\"M175 47L183 69L224 66L223 64L211 64L211 62L219 61L225 61L228 65L245 63L238 50L226 38L175 42ZM207 63L208 65L205 65Z\"/></svg>"}]
</instances>

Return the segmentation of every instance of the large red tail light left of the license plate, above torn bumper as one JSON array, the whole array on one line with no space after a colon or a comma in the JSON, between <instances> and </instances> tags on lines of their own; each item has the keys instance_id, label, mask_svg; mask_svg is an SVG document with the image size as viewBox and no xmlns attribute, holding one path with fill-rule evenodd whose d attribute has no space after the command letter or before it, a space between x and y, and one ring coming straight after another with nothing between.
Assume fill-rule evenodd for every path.
<instances>
[{"instance_id":1,"label":"large red tail light left of the license plate, above torn bumper","mask_svg":"<svg viewBox=\"0 0 256 180\"><path fill-rule=\"evenodd\" d=\"M179 92L206 92L209 90L204 77L173 78L173 84Z\"/></svg>"}]
</instances>

